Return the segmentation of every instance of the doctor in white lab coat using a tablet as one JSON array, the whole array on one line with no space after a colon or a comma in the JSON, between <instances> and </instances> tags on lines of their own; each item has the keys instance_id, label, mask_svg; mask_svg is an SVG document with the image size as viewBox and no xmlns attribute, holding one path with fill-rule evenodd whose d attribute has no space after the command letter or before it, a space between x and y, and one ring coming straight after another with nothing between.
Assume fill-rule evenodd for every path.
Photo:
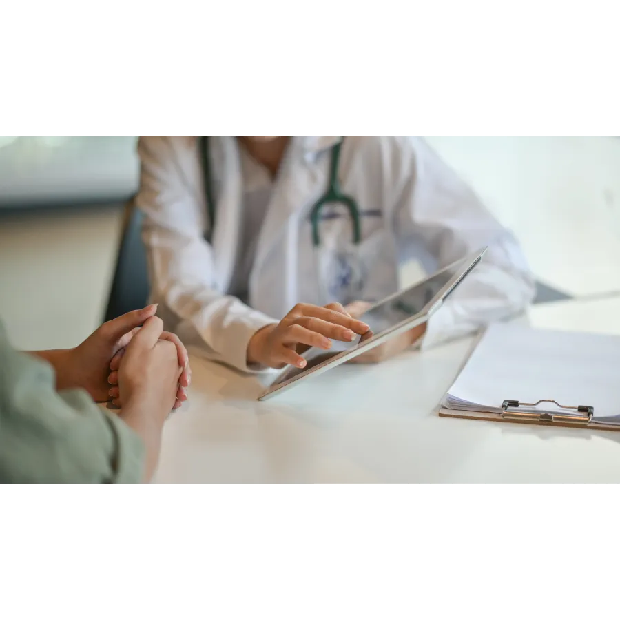
<instances>
[{"instance_id":1,"label":"doctor in white lab coat using a tablet","mask_svg":"<svg viewBox=\"0 0 620 620\"><path fill-rule=\"evenodd\" d=\"M353 243L347 209L328 205L316 247L310 214L341 142L338 178L358 205L362 238ZM303 366L304 348L364 333L338 304L394 293L412 258L430 274L488 246L426 326L372 360L467 335L533 300L513 234L419 136L209 134L214 227L198 135L143 134L138 153L136 203L158 315L188 349L241 371ZM342 256L354 258L357 277L338 280ZM363 304L349 310L355 316Z\"/></svg>"}]
</instances>

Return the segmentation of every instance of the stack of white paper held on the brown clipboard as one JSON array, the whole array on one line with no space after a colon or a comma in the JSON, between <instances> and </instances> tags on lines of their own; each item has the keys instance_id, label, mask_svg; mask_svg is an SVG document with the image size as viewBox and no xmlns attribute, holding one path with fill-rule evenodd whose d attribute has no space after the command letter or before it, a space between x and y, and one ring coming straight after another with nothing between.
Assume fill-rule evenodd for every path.
<instances>
[{"instance_id":1,"label":"stack of white paper held on the brown clipboard","mask_svg":"<svg viewBox=\"0 0 620 620\"><path fill-rule=\"evenodd\" d=\"M620 337L515 324L489 327L442 406L501 413L505 400L592 406L594 422L620 424Z\"/></svg>"}]
</instances>

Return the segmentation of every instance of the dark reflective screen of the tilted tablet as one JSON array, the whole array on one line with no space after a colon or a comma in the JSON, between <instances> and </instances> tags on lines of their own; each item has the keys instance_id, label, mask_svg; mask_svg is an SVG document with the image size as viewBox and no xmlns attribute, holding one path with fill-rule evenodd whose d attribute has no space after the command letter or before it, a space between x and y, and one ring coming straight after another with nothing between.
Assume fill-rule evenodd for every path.
<instances>
[{"instance_id":1,"label":"dark reflective screen of the tilted tablet","mask_svg":"<svg viewBox=\"0 0 620 620\"><path fill-rule=\"evenodd\" d=\"M373 335L381 335L386 331L397 327L402 322L415 318L419 315L429 304L435 302L435 298L439 299L442 289L448 285L451 280L458 276L459 273L466 273L466 269L472 264L473 259L471 256L464 258L463 260L446 267L446 269L435 273L434 276L419 282L417 285L413 285L409 289L401 291L395 296L387 298L383 302L371 307L364 316L360 317L360 320L368 324L372 333L369 335L358 337L353 342L338 342L333 341L333 346L329 351L322 349L309 349L307 353L304 353L303 358L308 362L304 369L298 369L295 366L291 366L284 373L278 376L278 379L273 384L281 384L287 382L298 375L308 373L316 366L319 366L323 362L335 358L336 355L340 355L343 351L350 351L355 349L362 342L369 340ZM449 293L448 293L449 294Z\"/></svg>"}]
</instances>

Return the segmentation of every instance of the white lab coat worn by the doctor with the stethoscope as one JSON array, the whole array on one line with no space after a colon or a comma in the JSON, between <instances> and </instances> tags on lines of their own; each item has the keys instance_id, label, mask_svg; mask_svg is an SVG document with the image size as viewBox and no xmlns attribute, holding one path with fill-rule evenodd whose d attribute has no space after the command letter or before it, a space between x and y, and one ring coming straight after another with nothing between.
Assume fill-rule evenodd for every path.
<instances>
[{"instance_id":1,"label":"white lab coat worn by the doctor with the stethoscope","mask_svg":"<svg viewBox=\"0 0 620 620\"><path fill-rule=\"evenodd\" d=\"M298 302L326 304L322 262L352 245L349 218L321 223L312 244L309 211L329 183L340 134L298 134L282 164L258 241L248 307L228 296L243 218L236 138L211 136L216 227L211 234L198 141L188 134L145 134L138 143L152 302L188 349L247 368L248 342ZM428 273L488 246L477 269L429 322L422 347L471 333L523 311L534 282L515 237L480 203L424 140L411 134L348 134L340 158L342 190L362 214L361 254L370 265L362 300L395 292L399 267L416 258ZM373 215L373 211L375 214ZM376 215L380 211L380 216ZM205 240L211 236L212 245Z\"/></svg>"}]
</instances>

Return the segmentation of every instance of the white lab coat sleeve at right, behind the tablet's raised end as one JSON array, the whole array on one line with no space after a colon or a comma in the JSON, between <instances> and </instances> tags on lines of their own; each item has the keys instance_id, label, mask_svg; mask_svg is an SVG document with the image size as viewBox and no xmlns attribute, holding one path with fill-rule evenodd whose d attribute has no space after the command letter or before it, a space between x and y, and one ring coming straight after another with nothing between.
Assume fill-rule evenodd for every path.
<instances>
[{"instance_id":1,"label":"white lab coat sleeve at right, behind the tablet's raised end","mask_svg":"<svg viewBox=\"0 0 620 620\"><path fill-rule=\"evenodd\" d=\"M422 349L523 312L535 296L535 281L515 236L422 138L393 139L405 179L395 214L404 254L422 245L442 268L488 247L475 271L429 320Z\"/></svg>"}]
</instances>

